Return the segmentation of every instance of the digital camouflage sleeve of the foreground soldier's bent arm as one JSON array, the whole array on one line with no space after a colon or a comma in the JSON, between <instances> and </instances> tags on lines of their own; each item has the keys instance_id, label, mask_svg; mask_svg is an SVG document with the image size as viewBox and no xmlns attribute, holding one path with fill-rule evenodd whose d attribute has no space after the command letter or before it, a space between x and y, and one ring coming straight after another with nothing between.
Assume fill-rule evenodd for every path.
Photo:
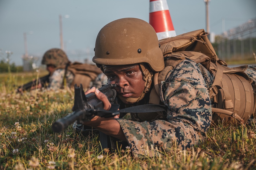
<instances>
[{"instance_id":1,"label":"digital camouflage sleeve of the foreground soldier's bent arm","mask_svg":"<svg viewBox=\"0 0 256 170\"><path fill-rule=\"evenodd\" d=\"M160 88L161 100L168 106L167 121L117 119L135 157L153 156L153 148L186 149L203 140L210 126L211 103L198 65L185 60L171 72Z\"/></svg>"}]
</instances>

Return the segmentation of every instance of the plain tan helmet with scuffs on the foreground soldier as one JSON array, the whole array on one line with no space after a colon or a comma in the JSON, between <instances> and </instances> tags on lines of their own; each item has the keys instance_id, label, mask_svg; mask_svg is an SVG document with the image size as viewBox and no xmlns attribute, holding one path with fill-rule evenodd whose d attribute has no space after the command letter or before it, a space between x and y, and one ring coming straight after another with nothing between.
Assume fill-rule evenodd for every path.
<instances>
[{"instance_id":1,"label":"plain tan helmet with scuffs on the foreground soldier","mask_svg":"<svg viewBox=\"0 0 256 170\"><path fill-rule=\"evenodd\" d=\"M95 43L96 64L148 63L155 72L164 69L164 58L154 28L144 20L122 18L105 25Z\"/></svg>"}]
</instances>

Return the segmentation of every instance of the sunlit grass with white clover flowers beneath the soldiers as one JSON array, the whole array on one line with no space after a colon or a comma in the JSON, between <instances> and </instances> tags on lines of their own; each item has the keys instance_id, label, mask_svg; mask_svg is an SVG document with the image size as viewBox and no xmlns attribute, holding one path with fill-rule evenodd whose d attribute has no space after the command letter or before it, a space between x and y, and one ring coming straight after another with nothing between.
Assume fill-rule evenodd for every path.
<instances>
[{"instance_id":1,"label":"sunlit grass with white clover flowers beneath the soldiers","mask_svg":"<svg viewBox=\"0 0 256 170\"><path fill-rule=\"evenodd\" d=\"M24 80L27 79L24 75ZM0 74L0 77L3 77ZM28 79L31 79L29 77ZM3 82L3 81L2 81ZM83 137L71 126L53 133L51 124L72 112L72 89L15 93L0 87L0 169L255 169L256 126L211 127L201 144L170 148L155 157L133 158L130 150L101 152L97 135ZM19 123L16 123L19 122Z\"/></svg>"}]
</instances>

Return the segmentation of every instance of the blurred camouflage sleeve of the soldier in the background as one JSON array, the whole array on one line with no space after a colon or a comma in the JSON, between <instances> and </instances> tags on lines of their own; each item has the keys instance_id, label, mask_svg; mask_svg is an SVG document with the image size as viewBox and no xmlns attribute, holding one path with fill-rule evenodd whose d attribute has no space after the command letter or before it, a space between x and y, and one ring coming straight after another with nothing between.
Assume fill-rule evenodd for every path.
<instances>
[{"instance_id":1,"label":"blurred camouflage sleeve of the soldier in the background","mask_svg":"<svg viewBox=\"0 0 256 170\"><path fill-rule=\"evenodd\" d=\"M55 70L52 75L49 77L49 86L48 89L50 90L57 90L62 87L63 82L63 76L65 74L65 69L57 69ZM68 87L71 86L71 83L74 80L74 75L70 71L67 71L66 73L66 79L64 81L64 84L66 84Z\"/></svg>"}]
</instances>

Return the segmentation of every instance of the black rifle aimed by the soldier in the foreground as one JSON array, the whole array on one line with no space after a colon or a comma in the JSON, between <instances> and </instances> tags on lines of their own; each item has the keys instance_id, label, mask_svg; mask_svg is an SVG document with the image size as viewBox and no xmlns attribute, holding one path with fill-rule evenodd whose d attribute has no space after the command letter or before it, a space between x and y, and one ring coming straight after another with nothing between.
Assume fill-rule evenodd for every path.
<instances>
[{"instance_id":1,"label":"black rifle aimed by the soldier in the foreground","mask_svg":"<svg viewBox=\"0 0 256 170\"><path fill-rule=\"evenodd\" d=\"M96 97L95 93L85 95L82 84L80 84L80 87L75 85L74 106L72 109L74 112L54 122L52 130L59 133L75 121L82 123L83 121L91 120L96 115L108 118L119 114L119 104L114 104L116 91L113 87L116 87L116 84L106 84L99 88L111 103L111 108L107 111L103 109L103 102ZM111 148L110 137L102 132L100 132L100 142L102 148Z\"/></svg>"}]
</instances>

